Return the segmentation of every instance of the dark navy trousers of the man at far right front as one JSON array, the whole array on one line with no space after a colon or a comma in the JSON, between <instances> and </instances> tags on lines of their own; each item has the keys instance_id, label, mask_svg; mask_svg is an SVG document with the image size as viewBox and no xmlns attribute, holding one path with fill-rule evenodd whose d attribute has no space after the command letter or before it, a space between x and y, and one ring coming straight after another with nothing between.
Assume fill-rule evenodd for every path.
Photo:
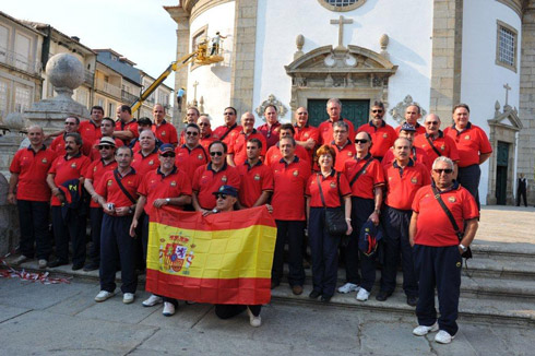
<instances>
[{"instance_id":1,"label":"dark navy trousers of the man at far right front","mask_svg":"<svg viewBox=\"0 0 535 356\"><path fill-rule=\"evenodd\" d=\"M462 258L459 247L414 246L414 265L419 281L416 317L418 324L430 327L437 321L435 288L439 299L440 330L457 333Z\"/></svg>"}]
</instances>

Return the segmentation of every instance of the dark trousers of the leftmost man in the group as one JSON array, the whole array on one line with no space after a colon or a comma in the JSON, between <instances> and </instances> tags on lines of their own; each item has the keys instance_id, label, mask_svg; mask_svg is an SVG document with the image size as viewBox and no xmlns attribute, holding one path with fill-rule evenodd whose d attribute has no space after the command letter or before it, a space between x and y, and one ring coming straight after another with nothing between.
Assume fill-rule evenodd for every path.
<instances>
[{"instance_id":1,"label":"dark trousers of the leftmost man in the group","mask_svg":"<svg viewBox=\"0 0 535 356\"><path fill-rule=\"evenodd\" d=\"M16 206L21 227L21 253L27 258L37 257L39 260L48 260L51 250L48 230L50 204L17 200Z\"/></svg>"}]
</instances>

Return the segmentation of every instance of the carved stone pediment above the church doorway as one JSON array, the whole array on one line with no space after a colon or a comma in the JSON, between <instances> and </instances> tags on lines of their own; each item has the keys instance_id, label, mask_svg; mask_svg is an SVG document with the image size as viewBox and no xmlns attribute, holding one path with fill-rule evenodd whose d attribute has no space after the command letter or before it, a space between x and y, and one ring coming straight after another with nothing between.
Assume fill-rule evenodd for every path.
<instances>
[{"instance_id":1,"label":"carved stone pediment above the church doorway","mask_svg":"<svg viewBox=\"0 0 535 356\"><path fill-rule=\"evenodd\" d=\"M308 99L382 100L388 107L389 79L397 66L378 52L348 45L316 48L285 66L292 78L293 112Z\"/></svg>"}]
</instances>

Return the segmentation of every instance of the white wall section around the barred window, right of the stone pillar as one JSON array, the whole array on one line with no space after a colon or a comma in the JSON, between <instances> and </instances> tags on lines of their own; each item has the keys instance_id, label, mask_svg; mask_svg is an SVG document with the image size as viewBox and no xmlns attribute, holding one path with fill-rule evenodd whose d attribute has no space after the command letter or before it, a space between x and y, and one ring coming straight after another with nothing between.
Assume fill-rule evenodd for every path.
<instances>
[{"instance_id":1,"label":"white wall section around the barred window, right of the stone pillar","mask_svg":"<svg viewBox=\"0 0 535 356\"><path fill-rule=\"evenodd\" d=\"M516 72L496 64L497 20L514 27L518 32ZM509 105L519 107L520 88L520 44L522 23L509 7L488 0L464 1L463 13L463 59L461 79L461 102L471 108L471 121L482 127L487 134L487 120L494 118L495 103L506 104L503 84L509 83ZM451 118L442 120L451 122ZM497 147L492 147L497 150ZM479 199L486 203L488 190L488 161L482 165Z\"/></svg>"}]
</instances>

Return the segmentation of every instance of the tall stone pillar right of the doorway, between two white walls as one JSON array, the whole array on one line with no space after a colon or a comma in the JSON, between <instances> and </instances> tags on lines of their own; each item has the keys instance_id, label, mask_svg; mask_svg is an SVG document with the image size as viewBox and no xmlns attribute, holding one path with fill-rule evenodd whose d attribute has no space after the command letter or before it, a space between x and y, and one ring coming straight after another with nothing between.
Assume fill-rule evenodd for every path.
<instances>
[{"instance_id":1,"label":"tall stone pillar right of the doorway, between two white walls","mask_svg":"<svg viewBox=\"0 0 535 356\"><path fill-rule=\"evenodd\" d=\"M444 126L461 97L463 0L433 0L431 95L429 111Z\"/></svg>"}]
</instances>

